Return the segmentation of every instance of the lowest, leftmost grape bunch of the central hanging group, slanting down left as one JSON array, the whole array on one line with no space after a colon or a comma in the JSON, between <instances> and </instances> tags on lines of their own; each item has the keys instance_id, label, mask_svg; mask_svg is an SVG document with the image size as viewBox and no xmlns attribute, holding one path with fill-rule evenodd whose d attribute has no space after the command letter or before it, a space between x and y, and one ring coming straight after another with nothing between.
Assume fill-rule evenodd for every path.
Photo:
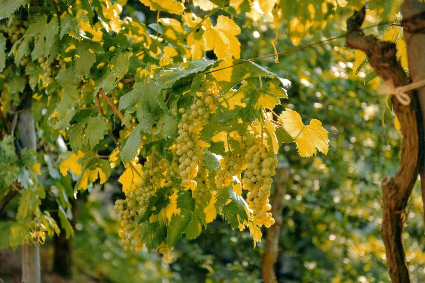
<instances>
[{"instance_id":1,"label":"lowest, leftmost grape bunch of the central hanging group, slanting down left","mask_svg":"<svg viewBox=\"0 0 425 283\"><path fill-rule=\"evenodd\" d=\"M153 157L148 158L137 188L128 192L125 199L115 201L114 210L122 227L119 237L125 249L138 251L144 248L145 244L139 232L143 223L136 223L135 216L146 212L147 201L156 195L157 189L172 186L172 178L167 174L169 168L170 163L165 159L154 163Z\"/></svg>"}]
</instances>

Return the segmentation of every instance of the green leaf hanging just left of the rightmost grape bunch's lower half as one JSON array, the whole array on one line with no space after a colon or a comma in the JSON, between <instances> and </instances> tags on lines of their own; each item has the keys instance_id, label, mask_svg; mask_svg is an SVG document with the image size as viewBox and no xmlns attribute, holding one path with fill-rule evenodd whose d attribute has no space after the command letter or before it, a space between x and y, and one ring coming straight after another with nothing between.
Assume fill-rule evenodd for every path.
<instances>
[{"instance_id":1,"label":"green leaf hanging just left of the rightmost grape bunch's lower half","mask_svg":"<svg viewBox=\"0 0 425 283\"><path fill-rule=\"evenodd\" d=\"M231 201L228 203L228 200ZM244 221L248 221L245 207L246 202L231 187L219 190L216 195L215 207L217 211L221 209L221 215L232 226L233 229L239 227Z\"/></svg>"}]
</instances>

